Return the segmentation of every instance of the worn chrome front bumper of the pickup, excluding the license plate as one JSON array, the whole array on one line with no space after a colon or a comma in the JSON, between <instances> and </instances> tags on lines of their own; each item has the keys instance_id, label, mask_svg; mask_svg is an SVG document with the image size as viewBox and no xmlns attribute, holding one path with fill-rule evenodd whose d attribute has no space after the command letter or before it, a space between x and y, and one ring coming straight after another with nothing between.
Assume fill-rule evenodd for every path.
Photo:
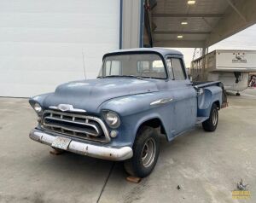
<instances>
[{"instance_id":1,"label":"worn chrome front bumper of the pickup, excluding the license plate","mask_svg":"<svg viewBox=\"0 0 256 203\"><path fill-rule=\"evenodd\" d=\"M55 136L52 136L43 131L38 131L36 129L30 132L29 137L36 142L40 142L49 146L51 146L52 142L55 140ZM75 154L82 154L90 157L109 160L130 159L133 155L132 149L130 147L108 148L73 140L69 143L67 151L73 152Z\"/></svg>"}]
</instances>

